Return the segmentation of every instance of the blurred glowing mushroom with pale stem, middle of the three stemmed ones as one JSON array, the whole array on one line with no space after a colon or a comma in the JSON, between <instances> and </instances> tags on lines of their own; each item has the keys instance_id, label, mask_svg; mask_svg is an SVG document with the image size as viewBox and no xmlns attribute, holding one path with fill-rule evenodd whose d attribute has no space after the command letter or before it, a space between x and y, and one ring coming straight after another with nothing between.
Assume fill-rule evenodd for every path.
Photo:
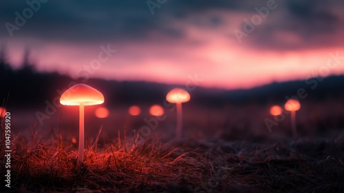
<instances>
[{"instance_id":1,"label":"blurred glowing mushroom with pale stem, middle of the three stemmed ones","mask_svg":"<svg viewBox=\"0 0 344 193\"><path fill-rule=\"evenodd\" d=\"M174 88L166 95L166 101L177 106L177 139L182 136L182 103L190 101L190 94L181 88Z\"/></svg>"}]
</instances>

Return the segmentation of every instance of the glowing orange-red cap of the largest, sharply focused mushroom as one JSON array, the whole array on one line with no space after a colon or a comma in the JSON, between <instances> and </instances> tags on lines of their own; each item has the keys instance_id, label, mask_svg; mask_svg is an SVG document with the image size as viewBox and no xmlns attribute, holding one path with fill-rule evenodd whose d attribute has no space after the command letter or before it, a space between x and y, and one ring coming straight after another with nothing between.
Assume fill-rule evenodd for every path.
<instances>
[{"instance_id":1,"label":"glowing orange-red cap of the largest, sharply focused mushroom","mask_svg":"<svg viewBox=\"0 0 344 193\"><path fill-rule=\"evenodd\" d=\"M63 92L60 98L63 105L98 105L104 103L104 96L95 88L85 84L77 84Z\"/></svg>"}]
</instances>

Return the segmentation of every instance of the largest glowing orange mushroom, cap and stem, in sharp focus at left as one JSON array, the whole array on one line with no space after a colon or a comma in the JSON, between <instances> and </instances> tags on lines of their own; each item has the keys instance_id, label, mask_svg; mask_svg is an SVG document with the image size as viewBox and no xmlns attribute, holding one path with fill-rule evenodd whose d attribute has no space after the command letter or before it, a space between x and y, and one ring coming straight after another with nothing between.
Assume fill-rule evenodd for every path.
<instances>
[{"instance_id":1,"label":"largest glowing orange mushroom, cap and stem, in sharp focus at left","mask_svg":"<svg viewBox=\"0 0 344 193\"><path fill-rule=\"evenodd\" d=\"M78 165L83 163L84 156L84 106L104 103L104 96L98 90L85 84L77 84L63 92L60 98L63 105L79 106L79 150Z\"/></svg>"}]
</instances>

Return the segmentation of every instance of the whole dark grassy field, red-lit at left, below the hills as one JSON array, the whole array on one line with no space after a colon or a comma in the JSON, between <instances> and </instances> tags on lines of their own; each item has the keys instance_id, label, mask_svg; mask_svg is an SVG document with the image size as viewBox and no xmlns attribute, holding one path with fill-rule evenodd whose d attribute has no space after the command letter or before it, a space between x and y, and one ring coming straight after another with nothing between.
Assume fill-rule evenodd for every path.
<instances>
[{"instance_id":1,"label":"whole dark grassy field, red-lit at left, below the hills","mask_svg":"<svg viewBox=\"0 0 344 193\"><path fill-rule=\"evenodd\" d=\"M105 121L90 113L86 117L95 121L86 120L85 159L78 166L78 145L72 142L78 132L74 110L62 118L56 113L50 120L55 127L33 124L21 132L12 129L8 192L344 192L343 130L319 129L291 139L290 120L270 133L264 124L269 116L250 106L236 114L186 110L184 137L176 140L173 111L166 111L166 120L156 122L157 128L144 137L138 136L139 125L147 124L144 118L155 123L148 114ZM235 119L228 121L228 114ZM306 119L299 120L298 126L305 128ZM122 130L107 126L114 123ZM257 128L261 130L254 132ZM1 174L5 172L1 167Z\"/></svg>"}]
</instances>

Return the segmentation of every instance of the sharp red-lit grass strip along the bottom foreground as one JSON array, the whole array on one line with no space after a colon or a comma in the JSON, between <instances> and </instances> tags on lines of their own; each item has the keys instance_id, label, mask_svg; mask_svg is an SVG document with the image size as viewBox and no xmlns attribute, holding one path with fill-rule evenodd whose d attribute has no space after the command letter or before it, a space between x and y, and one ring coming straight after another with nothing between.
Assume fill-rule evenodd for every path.
<instances>
[{"instance_id":1,"label":"sharp red-lit grass strip along the bottom foreground","mask_svg":"<svg viewBox=\"0 0 344 193\"><path fill-rule=\"evenodd\" d=\"M344 135L332 139L138 142L76 146L61 134L12 139L7 192L344 192ZM3 141L3 140L2 140ZM3 143L1 143L3 144ZM1 157L3 157L1 145ZM1 164L3 165L3 164ZM1 167L1 174L5 168Z\"/></svg>"}]
</instances>

